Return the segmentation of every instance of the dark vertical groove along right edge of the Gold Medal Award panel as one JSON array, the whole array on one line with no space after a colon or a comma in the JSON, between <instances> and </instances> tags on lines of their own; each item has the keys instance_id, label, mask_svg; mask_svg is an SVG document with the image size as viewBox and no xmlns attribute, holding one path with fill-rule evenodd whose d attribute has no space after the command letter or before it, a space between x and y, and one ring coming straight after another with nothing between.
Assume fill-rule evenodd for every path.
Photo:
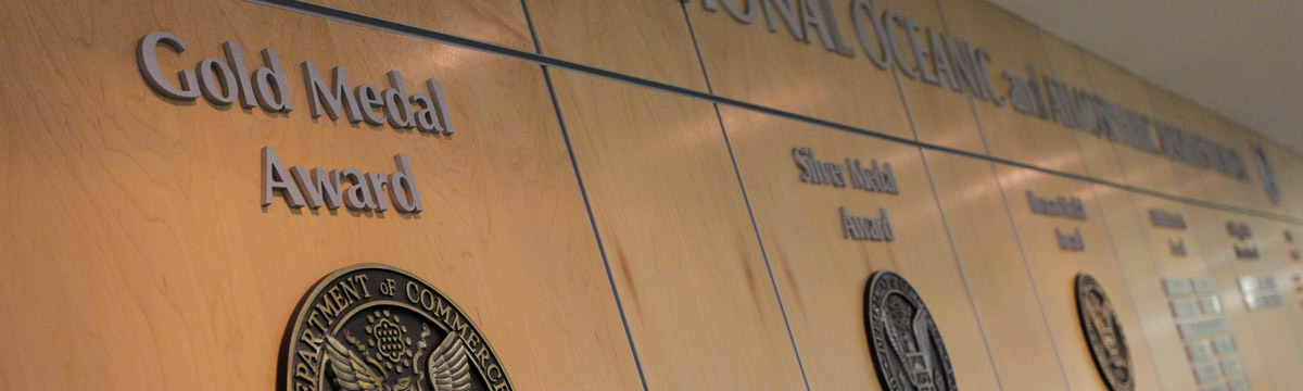
<instances>
[{"instance_id":1,"label":"dark vertical groove along right edge of the Gold Medal Award panel","mask_svg":"<svg viewBox=\"0 0 1303 391\"><path fill-rule=\"evenodd\" d=\"M538 40L538 33L534 30L534 21L529 16L529 5L525 0L520 0L520 7L525 12L525 22L529 25L529 35L534 40L534 51L539 55L543 53L543 47ZM547 83L547 94L552 100L552 109L556 111L556 123L562 129L562 139L566 141L566 152L571 159L571 168L575 169L575 180L579 185L580 195L584 198L584 210L588 212L588 223L593 227L593 237L597 241L597 252L602 257L602 267L606 268L606 282L611 285L611 296L615 298L615 309L620 313L620 323L624 326L624 338L629 341L629 353L633 355L633 366L638 371L638 381L642 382L642 391L650 391L648 388L646 374L642 373L642 360L638 358L638 348L633 341L633 332L629 331L629 319L624 315L624 302L620 301L620 291L615 287L615 275L611 274L611 262L606 257L606 245L602 242L602 232L597 228L597 218L593 215L593 205L588 199L588 189L584 186L584 176L579 169L579 159L575 158L575 149L571 146L569 130L566 129L566 119L562 116L560 100L556 99L556 90L552 87L552 76L547 69L547 65L539 65L543 72L543 81Z\"/></svg>"}]
</instances>

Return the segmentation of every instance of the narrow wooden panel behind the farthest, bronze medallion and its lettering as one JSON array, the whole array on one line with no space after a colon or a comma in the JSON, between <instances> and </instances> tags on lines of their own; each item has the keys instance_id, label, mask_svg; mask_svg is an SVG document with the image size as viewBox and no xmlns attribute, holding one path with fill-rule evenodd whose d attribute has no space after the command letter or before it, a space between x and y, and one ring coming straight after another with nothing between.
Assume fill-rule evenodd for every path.
<instances>
[{"instance_id":1,"label":"narrow wooden panel behind the farthest, bronze medallion and its lettering","mask_svg":"<svg viewBox=\"0 0 1303 391\"><path fill-rule=\"evenodd\" d=\"M1136 387L1162 390L1148 340L1136 317L1132 293L1114 258L1109 231L1100 216L1100 205L1092 185L1009 166L997 164L995 171L1003 186L1014 229L1018 232L1018 242L1025 254L1027 270L1035 279L1058 357L1072 388L1106 388L1080 330L1080 317L1076 310L1074 291L1076 275L1088 272L1108 292L1122 328L1127 332ZM1050 199L1075 197L1085 209L1085 220L1036 215L1028 205L1028 192ZM1080 232L1084 249L1070 252L1061 248L1058 236L1072 232Z\"/></svg>"}]
</instances>

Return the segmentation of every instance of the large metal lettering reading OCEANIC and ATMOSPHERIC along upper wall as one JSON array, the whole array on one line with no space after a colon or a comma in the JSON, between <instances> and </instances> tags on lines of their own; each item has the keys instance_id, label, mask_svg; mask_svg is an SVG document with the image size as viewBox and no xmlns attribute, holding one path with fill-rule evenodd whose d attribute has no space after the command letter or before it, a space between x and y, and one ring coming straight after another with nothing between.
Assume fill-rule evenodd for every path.
<instances>
[{"instance_id":1,"label":"large metal lettering reading OCEANIC and ATMOSPHERIC along upper wall","mask_svg":"<svg viewBox=\"0 0 1303 391\"><path fill-rule=\"evenodd\" d=\"M814 7L812 1L814 0L702 0L701 5L708 12L717 12L723 4L724 10L743 25L751 25L764 14L769 33L778 33L774 18L777 14L792 38L805 44L812 42L809 27L814 27L823 48L853 59L855 48L843 42L838 29L838 20L847 17L834 12L829 0L821 0L822 7ZM894 9L878 9L872 0L853 0L848 12L860 50L878 69L895 68L907 78L938 87L949 83L951 91L967 93L995 107L1010 103L1014 111L1027 116L1242 181L1248 180L1244 158L1230 146L1041 74L1031 64L1027 65L1025 77L1010 70L1001 72L998 80L1007 86L997 89L992 82L997 70L986 69L992 63L992 53L986 48L925 26ZM1268 192L1274 192L1268 186Z\"/></svg>"}]
</instances>

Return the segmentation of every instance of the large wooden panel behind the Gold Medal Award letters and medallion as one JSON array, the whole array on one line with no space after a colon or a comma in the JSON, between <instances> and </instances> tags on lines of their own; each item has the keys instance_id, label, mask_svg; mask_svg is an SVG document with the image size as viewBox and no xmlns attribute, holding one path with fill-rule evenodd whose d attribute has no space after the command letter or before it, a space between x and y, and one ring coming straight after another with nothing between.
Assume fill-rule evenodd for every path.
<instances>
[{"instance_id":1,"label":"large wooden panel behind the Gold Medal Award letters and medallion","mask_svg":"<svg viewBox=\"0 0 1303 391\"><path fill-rule=\"evenodd\" d=\"M7 388L270 390L300 297L360 262L457 301L521 390L638 388L537 65L244 1L4 8L0 61L23 77L0 86L3 166L7 186L33 189L7 195L0 228L0 355L22 357L0 366ZM225 40L278 50L296 109L156 95L134 50L158 30L189 44L160 52L172 72ZM439 78L457 132L313 120L304 60L354 83ZM261 209L263 146L287 164L384 172L407 154L426 210Z\"/></svg>"}]
</instances>

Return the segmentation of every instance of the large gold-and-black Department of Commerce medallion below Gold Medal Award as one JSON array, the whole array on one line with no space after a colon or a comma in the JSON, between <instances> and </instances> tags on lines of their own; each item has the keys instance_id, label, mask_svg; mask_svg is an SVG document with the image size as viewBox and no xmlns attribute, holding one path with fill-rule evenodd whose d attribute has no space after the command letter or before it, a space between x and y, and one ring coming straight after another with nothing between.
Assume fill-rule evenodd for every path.
<instances>
[{"instance_id":1,"label":"large gold-and-black Department of Commerce medallion below Gold Medal Award","mask_svg":"<svg viewBox=\"0 0 1303 391\"><path fill-rule=\"evenodd\" d=\"M283 391L515 390L466 313L391 266L354 265L326 276L289 328Z\"/></svg>"}]
</instances>

